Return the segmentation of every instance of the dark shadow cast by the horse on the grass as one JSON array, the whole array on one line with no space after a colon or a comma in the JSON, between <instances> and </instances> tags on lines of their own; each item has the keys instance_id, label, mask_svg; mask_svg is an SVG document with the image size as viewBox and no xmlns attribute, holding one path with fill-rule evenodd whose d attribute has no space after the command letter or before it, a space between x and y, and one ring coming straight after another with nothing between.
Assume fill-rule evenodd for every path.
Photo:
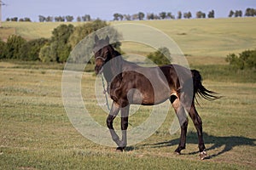
<instances>
[{"instance_id":1,"label":"dark shadow cast by the horse on the grass","mask_svg":"<svg viewBox=\"0 0 256 170\"><path fill-rule=\"evenodd\" d=\"M208 135L207 133L203 133L205 144L212 144L210 148L207 150L214 150L224 146L223 150L218 151L218 153L208 156L207 159L219 156L224 154L227 151L232 150L236 146L240 145L248 145L248 146L256 146L256 139L249 139L242 136L227 136L227 137L218 137ZM153 148L160 148L160 147L168 147L179 144L179 139L172 139L165 142L155 143L155 144L143 144L144 146L150 146ZM187 144L198 144L197 133L189 132L187 135ZM198 151L191 152L189 155L194 155L198 153Z\"/></svg>"}]
</instances>

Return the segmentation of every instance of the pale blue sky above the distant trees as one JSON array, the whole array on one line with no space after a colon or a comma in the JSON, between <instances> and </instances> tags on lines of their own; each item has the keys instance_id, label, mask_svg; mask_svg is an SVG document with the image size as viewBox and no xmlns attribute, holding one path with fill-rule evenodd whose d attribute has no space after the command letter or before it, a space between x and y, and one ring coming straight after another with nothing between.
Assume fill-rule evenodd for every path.
<instances>
[{"instance_id":1,"label":"pale blue sky above the distant trees","mask_svg":"<svg viewBox=\"0 0 256 170\"><path fill-rule=\"evenodd\" d=\"M227 17L230 10L256 8L256 0L0 0L7 5L2 7L2 20L6 18L28 17L38 21L38 15L77 16L90 14L92 19L113 20L113 14L144 14L178 11L191 12L195 18L197 11L206 14L214 10L215 18Z\"/></svg>"}]
</instances>

